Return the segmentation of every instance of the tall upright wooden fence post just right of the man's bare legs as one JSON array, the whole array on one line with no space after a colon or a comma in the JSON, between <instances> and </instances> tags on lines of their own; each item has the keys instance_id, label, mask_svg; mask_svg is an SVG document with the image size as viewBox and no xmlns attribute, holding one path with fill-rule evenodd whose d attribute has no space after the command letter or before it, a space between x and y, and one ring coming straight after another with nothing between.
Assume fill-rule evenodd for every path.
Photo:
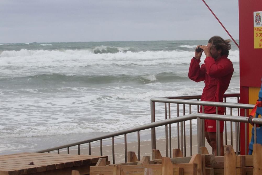
<instances>
[{"instance_id":1,"label":"tall upright wooden fence post just right of the man's bare legs","mask_svg":"<svg viewBox=\"0 0 262 175\"><path fill-rule=\"evenodd\" d=\"M232 145L224 146L224 175L236 175L236 154Z\"/></svg>"}]
</instances>

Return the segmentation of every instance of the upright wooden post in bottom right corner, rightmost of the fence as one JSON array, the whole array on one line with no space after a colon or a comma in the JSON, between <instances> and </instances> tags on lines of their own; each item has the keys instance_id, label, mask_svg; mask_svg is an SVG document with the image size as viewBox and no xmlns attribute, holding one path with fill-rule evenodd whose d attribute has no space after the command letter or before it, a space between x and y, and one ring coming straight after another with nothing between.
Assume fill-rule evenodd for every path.
<instances>
[{"instance_id":1,"label":"upright wooden post in bottom right corner, rightmost of the fence","mask_svg":"<svg viewBox=\"0 0 262 175\"><path fill-rule=\"evenodd\" d=\"M262 146L253 144L253 174L262 174Z\"/></svg>"}]
</instances>

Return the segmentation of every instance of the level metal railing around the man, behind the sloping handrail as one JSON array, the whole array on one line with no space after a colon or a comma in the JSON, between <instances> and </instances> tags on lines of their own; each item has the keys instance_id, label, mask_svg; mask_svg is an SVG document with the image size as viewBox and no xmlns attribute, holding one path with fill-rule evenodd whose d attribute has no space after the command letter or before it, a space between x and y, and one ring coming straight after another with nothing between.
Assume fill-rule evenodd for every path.
<instances>
[{"instance_id":1,"label":"level metal railing around the man, behind the sloping handrail","mask_svg":"<svg viewBox=\"0 0 262 175\"><path fill-rule=\"evenodd\" d=\"M225 94L224 95L224 102L226 102L226 98L237 98L237 103L239 102L239 94ZM239 109L244 109L245 116L247 116L247 109L253 109L254 105L249 104L237 104L237 103L219 103L219 102L204 102L204 101L198 101L201 96L186 96L186 97L167 97L167 98L151 98L151 122L155 122L155 102L160 102L165 104L165 119L167 119L167 104L168 104L168 116L171 118L171 108L170 104L174 103L176 104L176 113L177 117L179 117L179 104L183 105L183 115L185 115L185 104L189 105L189 111L188 113L192 113L192 105L196 105L196 113L199 113L199 106L202 107L204 112L204 106L214 106L216 107L216 114L218 114L218 107L225 107L225 115L227 114L227 108L230 109L230 115L232 115L232 109L236 108L237 116L239 116ZM194 100L189 100L194 99ZM196 99L196 100L195 100ZM201 125L200 125L201 124ZM240 150L240 130L239 130L239 123L235 124L236 129L236 152L238 154L238 150ZM179 127L180 127L180 134L179 134ZM192 156L192 123L191 120L189 121L189 131L190 131L190 155ZM168 135L168 127L166 126L166 135ZM220 123L217 121L217 155L220 155ZM204 136L204 120L198 121L198 129L201 130L201 135L198 135L198 141L201 141L201 146L205 146L205 136ZM233 145L233 127L232 127L232 121L230 122L230 131L231 131L231 145ZM171 125L169 125L169 135L171 135ZM186 156L186 149L185 149L185 121L177 123L177 147L180 148L181 151ZM156 138L155 138L155 128L151 129L151 141L152 141L152 149L156 148ZM245 145L247 145L247 124L245 124ZM225 145L227 145L227 125L225 121ZM171 139L169 140L169 147L171 148ZM247 148L247 147L246 147ZM166 151L168 151L168 145L166 143ZM247 154L247 149L245 149L245 153ZM166 152L166 154L168 154ZM170 156L171 156L171 149L170 149Z\"/></svg>"}]
</instances>

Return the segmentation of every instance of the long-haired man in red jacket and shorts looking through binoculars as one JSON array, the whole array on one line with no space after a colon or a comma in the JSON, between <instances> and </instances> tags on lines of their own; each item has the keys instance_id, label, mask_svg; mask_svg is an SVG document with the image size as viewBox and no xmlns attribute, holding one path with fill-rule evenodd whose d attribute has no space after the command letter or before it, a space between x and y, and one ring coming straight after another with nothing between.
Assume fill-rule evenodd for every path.
<instances>
[{"instance_id":1,"label":"long-haired man in red jacket and shorts looking through binoculars","mask_svg":"<svg viewBox=\"0 0 262 175\"><path fill-rule=\"evenodd\" d=\"M195 56L192 58L188 77L195 81L204 81L205 87L201 101L223 102L223 95L226 92L233 75L233 64L227 58L231 49L231 40L224 40L220 36L213 36L209 39L208 45L197 46ZM202 53L206 55L204 64L199 65ZM205 106L204 112L216 114L216 107ZM218 107L218 114L224 114L225 108ZM224 155L223 145L224 121L220 121L220 154ZM205 119L205 137L212 147L216 156L216 120Z\"/></svg>"}]
</instances>

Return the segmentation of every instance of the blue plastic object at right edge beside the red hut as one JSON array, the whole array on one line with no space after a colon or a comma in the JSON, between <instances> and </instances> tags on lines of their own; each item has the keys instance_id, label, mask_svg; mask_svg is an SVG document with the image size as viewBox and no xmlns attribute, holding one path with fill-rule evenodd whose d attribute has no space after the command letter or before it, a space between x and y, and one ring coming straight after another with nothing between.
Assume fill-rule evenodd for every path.
<instances>
[{"instance_id":1,"label":"blue plastic object at right edge beside the red hut","mask_svg":"<svg viewBox=\"0 0 262 175\"><path fill-rule=\"evenodd\" d=\"M262 84L261 84L260 91L258 93L258 101L262 101ZM256 107L255 117L258 117L258 115L262 116L262 107ZM252 137L251 137L251 141L249 143L249 152L248 152L249 155L252 155L252 152L253 152L254 127L252 128L251 133L252 133ZM260 128L256 128L256 143L262 145L262 126Z\"/></svg>"}]
</instances>

